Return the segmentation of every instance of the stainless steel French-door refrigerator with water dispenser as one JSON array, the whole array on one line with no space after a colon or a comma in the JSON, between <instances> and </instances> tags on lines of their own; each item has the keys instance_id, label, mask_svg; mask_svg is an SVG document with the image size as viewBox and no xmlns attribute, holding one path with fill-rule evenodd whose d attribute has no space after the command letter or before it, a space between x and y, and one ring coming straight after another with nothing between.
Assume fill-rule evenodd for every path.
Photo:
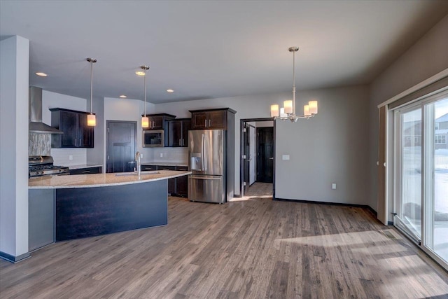
<instances>
[{"instance_id":1,"label":"stainless steel French-door refrigerator with water dispenser","mask_svg":"<svg viewBox=\"0 0 448 299\"><path fill-rule=\"evenodd\" d=\"M193 202L226 202L226 131L188 131L188 199Z\"/></svg>"}]
</instances>

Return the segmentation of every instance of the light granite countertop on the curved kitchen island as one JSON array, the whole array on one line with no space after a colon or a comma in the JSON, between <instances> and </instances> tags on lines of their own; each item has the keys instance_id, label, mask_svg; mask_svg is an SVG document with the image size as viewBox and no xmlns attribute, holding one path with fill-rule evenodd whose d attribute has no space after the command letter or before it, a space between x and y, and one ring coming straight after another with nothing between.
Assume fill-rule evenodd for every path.
<instances>
[{"instance_id":1,"label":"light granite countertop on the curved kitchen island","mask_svg":"<svg viewBox=\"0 0 448 299\"><path fill-rule=\"evenodd\" d=\"M91 188L146 183L186 176L191 172L158 170L156 172L118 172L112 174L78 174L76 176L38 176L28 179L29 189Z\"/></svg>"}]
</instances>

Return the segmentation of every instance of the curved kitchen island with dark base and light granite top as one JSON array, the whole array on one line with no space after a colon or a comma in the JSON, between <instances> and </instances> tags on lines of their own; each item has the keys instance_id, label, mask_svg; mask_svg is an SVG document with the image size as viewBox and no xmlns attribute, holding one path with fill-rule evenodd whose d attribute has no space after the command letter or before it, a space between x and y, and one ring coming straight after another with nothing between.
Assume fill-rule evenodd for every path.
<instances>
[{"instance_id":1,"label":"curved kitchen island with dark base and light granite top","mask_svg":"<svg viewBox=\"0 0 448 299\"><path fill-rule=\"evenodd\" d=\"M29 249L51 243L50 238L57 242L166 225L167 180L188 174L160 170L140 176L122 172L31 178Z\"/></svg>"}]
</instances>

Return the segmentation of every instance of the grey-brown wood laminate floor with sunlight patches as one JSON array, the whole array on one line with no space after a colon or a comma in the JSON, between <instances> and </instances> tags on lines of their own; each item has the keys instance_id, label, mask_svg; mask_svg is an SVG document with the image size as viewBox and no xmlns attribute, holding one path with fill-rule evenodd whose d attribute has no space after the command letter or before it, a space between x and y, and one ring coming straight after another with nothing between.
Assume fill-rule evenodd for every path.
<instances>
[{"instance_id":1,"label":"grey-brown wood laminate floor with sunlight patches","mask_svg":"<svg viewBox=\"0 0 448 299\"><path fill-rule=\"evenodd\" d=\"M448 275L370 211L169 198L169 224L0 260L0 298L447 298Z\"/></svg>"}]
</instances>

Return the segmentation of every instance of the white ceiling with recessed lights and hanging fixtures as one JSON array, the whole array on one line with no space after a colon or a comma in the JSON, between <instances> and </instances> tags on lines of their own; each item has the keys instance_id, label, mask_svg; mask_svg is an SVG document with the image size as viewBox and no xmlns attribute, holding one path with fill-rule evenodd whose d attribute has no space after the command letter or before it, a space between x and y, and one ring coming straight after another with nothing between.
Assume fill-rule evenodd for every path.
<instances>
[{"instance_id":1,"label":"white ceiling with recessed lights and hanging fixtures","mask_svg":"<svg viewBox=\"0 0 448 299\"><path fill-rule=\"evenodd\" d=\"M30 85L176 102L370 83L448 1L5 1L0 39L30 41ZM48 77L34 73L43 71ZM165 90L172 88L174 93Z\"/></svg>"}]
</instances>

